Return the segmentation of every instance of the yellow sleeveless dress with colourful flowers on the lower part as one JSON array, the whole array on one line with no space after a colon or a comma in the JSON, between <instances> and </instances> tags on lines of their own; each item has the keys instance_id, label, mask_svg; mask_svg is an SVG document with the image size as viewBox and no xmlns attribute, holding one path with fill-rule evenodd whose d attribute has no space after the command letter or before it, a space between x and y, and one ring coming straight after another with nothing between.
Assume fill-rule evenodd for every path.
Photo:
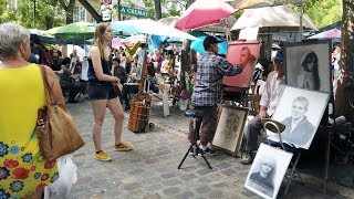
<instances>
[{"instance_id":1,"label":"yellow sleeveless dress with colourful flowers on the lower part","mask_svg":"<svg viewBox=\"0 0 354 199\"><path fill-rule=\"evenodd\" d=\"M45 161L35 135L37 111L45 103L35 64L0 69L0 198L23 198L59 177Z\"/></svg>"}]
</instances>

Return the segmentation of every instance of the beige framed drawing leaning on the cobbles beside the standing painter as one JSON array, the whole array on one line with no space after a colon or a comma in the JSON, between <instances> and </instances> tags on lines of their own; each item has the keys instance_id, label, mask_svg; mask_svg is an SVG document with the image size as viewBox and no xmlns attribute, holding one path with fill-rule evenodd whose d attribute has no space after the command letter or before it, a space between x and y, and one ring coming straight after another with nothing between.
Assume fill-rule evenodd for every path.
<instances>
[{"instance_id":1,"label":"beige framed drawing leaning on the cobbles beside the standing painter","mask_svg":"<svg viewBox=\"0 0 354 199\"><path fill-rule=\"evenodd\" d=\"M233 156L241 147L248 108L222 105L212 146Z\"/></svg>"}]
</instances>

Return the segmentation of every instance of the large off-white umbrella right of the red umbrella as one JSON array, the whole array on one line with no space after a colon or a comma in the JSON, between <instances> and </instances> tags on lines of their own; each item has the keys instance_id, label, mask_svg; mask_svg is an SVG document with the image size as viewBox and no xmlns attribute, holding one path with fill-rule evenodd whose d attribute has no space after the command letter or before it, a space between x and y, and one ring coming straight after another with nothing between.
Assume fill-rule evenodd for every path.
<instances>
[{"instance_id":1,"label":"large off-white umbrella right of the red umbrella","mask_svg":"<svg viewBox=\"0 0 354 199\"><path fill-rule=\"evenodd\" d=\"M303 14L302 19L303 28L317 30L306 14ZM263 29L264 31L299 30L300 13L294 12L289 4L244 9L244 12L233 24L231 31L254 27L259 27L260 30Z\"/></svg>"}]
</instances>

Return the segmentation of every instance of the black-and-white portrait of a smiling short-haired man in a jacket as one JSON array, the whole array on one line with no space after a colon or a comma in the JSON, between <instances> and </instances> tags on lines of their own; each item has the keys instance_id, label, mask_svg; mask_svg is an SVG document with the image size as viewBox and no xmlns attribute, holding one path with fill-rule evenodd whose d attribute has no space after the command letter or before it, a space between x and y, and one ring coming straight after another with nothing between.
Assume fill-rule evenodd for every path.
<instances>
[{"instance_id":1,"label":"black-and-white portrait of a smiling short-haired man in a jacket","mask_svg":"<svg viewBox=\"0 0 354 199\"><path fill-rule=\"evenodd\" d=\"M285 125L282 142L309 149L329 102L329 94L285 86L272 119ZM269 139L279 142L278 134L267 130Z\"/></svg>"}]
</instances>

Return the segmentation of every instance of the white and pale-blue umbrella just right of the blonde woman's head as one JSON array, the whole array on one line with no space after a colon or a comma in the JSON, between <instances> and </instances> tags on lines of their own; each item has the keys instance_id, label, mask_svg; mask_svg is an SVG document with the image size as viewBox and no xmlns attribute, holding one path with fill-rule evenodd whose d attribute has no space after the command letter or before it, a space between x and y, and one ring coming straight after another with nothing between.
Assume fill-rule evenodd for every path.
<instances>
[{"instance_id":1,"label":"white and pale-blue umbrella just right of the blonde woman's head","mask_svg":"<svg viewBox=\"0 0 354 199\"><path fill-rule=\"evenodd\" d=\"M125 20L112 22L112 28L115 31L123 31L125 33L135 34L154 34L164 35L169 38L180 38L187 40L198 40L196 36L190 35L186 32L175 29L150 19L138 19L138 20Z\"/></svg>"}]
</instances>

